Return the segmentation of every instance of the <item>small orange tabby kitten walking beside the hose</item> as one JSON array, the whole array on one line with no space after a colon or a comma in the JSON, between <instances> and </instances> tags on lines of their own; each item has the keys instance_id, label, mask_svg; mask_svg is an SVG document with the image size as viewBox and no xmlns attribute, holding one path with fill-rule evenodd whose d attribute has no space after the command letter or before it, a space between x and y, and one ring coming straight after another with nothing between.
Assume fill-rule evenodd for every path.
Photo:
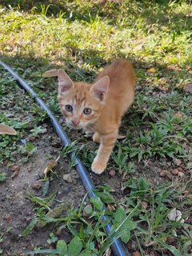
<instances>
[{"instance_id":1,"label":"small orange tabby kitten walking beside the hose","mask_svg":"<svg viewBox=\"0 0 192 256\"><path fill-rule=\"evenodd\" d=\"M120 59L107 66L94 84L73 82L64 70L58 70L58 102L66 123L77 129L94 131L99 142L91 170L106 169L122 115L134 101L135 75L132 64Z\"/></svg>"}]
</instances>

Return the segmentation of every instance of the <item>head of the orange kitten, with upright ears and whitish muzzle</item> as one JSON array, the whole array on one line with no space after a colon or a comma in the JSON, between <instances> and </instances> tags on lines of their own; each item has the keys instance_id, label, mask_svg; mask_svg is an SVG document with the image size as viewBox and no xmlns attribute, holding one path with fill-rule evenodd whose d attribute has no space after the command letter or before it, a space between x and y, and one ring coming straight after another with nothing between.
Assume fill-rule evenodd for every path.
<instances>
[{"instance_id":1,"label":"head of the orange kitten, with upright ears and whitish muzzle","mask_svg":"<svg viewBox=\"0 0 192 256\"><path fill-rule=\"evenodd\" d=\"M58 102L66 123L76 129L91 126L106 102L108 76L94 85L73 82L64 70L58 70Z\"/></svg>"}]
</instances>

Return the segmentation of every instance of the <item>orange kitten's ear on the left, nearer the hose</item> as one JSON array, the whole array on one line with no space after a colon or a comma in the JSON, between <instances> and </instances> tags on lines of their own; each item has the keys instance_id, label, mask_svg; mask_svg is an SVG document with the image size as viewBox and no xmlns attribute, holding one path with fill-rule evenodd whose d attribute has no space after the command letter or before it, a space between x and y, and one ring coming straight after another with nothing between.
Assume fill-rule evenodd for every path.
<instances>
[{"instance_id":1,"label":"orange kitten's ear on the left, nearer the hose","mask_svg":"<svg viewBox=\"0 0 192 256\"><path fill-rule=\"evenodd\" d=\"M73 81L64 70L58 70L58 92L65 94L74 87Z\"/></svg>"}]
</instances>

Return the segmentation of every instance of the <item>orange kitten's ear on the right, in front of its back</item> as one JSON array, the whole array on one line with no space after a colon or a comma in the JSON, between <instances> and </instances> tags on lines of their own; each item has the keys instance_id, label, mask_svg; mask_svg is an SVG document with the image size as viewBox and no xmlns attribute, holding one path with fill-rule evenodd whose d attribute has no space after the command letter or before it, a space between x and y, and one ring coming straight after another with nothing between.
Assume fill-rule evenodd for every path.
<instances>
[{"instance_id":1,"label":"orange kitten's ear on the right, in front of its back","mask_svg":"<svg viewBox=\"0 0 192 256\"><path fill-rule=\"evenodd\" d=\"M106 97L106 92L110 84L110 78L108 76L98 80L93 86L90 87L90 91L94 94L95 98L98 98L100 102Z\"/></svg>"}]
</instances>

